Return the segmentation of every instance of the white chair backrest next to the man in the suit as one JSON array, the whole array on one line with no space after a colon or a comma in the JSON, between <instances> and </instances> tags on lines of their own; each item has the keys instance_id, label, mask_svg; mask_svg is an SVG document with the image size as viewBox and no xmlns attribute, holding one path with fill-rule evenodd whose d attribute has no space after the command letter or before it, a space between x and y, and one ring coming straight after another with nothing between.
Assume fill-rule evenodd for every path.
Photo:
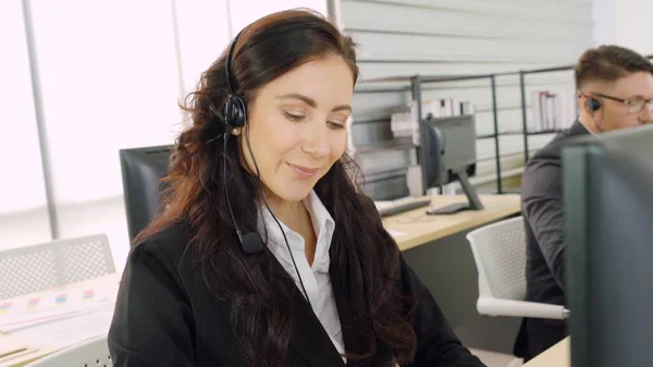
<instances>
[{"instance_id":1,"label":"white chair backrest next to the man in the suit","mask_svg":"<svg viewBox=\"0 0 653 367\"><path fill-rule=\"evenodd\" d=\"M517 217L467 234L479 271L481 297L523 301L526 296L526 233Z\"/></svg>"}]
</instances>

